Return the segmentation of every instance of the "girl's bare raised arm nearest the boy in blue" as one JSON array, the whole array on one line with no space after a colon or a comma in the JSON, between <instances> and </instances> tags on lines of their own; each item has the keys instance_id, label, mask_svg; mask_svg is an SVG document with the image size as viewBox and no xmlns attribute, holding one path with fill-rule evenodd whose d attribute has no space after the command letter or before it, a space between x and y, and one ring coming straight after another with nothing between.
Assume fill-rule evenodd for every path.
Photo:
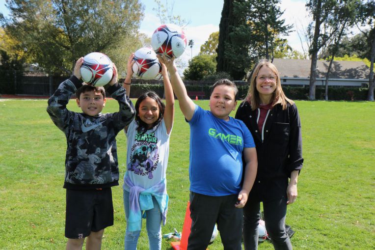
<instances>
[{"instance_id":1,"label":"girl's bare raised arm nearest the boy in blue","mask_svg":"<svg viewBox=\"0 0 375 250\"><path fill-rule=\"evenodd\" d=\"M172 85L169 81L168 71L164 63L161 62L161 75L163 76L164 93L165 93L165 110L164 110L164 122L169 135L174 119L174 94Z\"/></svg>"}]
</instances>

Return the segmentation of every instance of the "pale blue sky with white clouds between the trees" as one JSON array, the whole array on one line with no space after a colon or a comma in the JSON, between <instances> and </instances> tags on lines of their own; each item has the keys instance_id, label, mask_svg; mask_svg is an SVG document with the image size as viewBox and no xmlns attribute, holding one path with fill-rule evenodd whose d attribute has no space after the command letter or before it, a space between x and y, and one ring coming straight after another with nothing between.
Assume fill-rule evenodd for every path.
<instances>
[{"instance_id":1,"label":"pale blue sky with white clouds between the trees","mask_svg":"<svg viewBox=\"0 0 375 250\"><path fill-rule=\"evenodd\" d=\"M161 25L156 11L153 10L157 5L155 0L140 0L145 7L145 16L141 23L140 32L151 37L154 30ZM165 0L161 0L164 4ZM168 4L174 2L173 15L180 15L183 19L189 21L184 28L188 40L194 40L192 51L187 48L182 56L185 60L196 56L199 53L200 46L207 41L212 32L219 30L221 10L223 0L168 0ZM5 0L0 0L0 12L6 15L8 10L5 8ZM287 24L293 24L294 29L306 27L308 20L305 9L306 0L282 0L281 9L285 10L283 18ZM302 52L301 43L297 33L294 31L288 37L289 45L295 50Z\"/></svg>"}]
</instances>

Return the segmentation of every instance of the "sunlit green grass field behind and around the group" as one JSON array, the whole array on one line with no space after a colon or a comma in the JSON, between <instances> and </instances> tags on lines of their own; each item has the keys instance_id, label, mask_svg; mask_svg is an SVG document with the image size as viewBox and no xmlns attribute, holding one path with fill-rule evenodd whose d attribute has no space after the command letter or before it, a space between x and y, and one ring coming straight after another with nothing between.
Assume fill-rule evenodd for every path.
<instances>
[{"instance_id":1,"label":"sunlit green grass field behind and around the group","mask_svg":"<svg viewBox=\"0 0 375 250\"><path fill-rule=\"evenodd\" d=\"M208 101L197 101L208 109ZM304 167L298 198L288 207L294 249L375 249L375 102L298 101ZM65 249L66 141L46 112L47 100L0 99L0 249ZM80 111L72 100L69 109ZM118 109L108 100L104 112ZM234 116L234 113L233 113ZM170 197L162 233L181 231L188 201L189 128L176 102L167 170ZM117 136L121 176L126 138ZM122 180L120 180L122 184ZM121 185L120 184L120 185ZM114 226L104 250L123 249L126 221L121 186L113 189ZM139 250L148 249L145 230ZM163 249L170 249L163 239ZM210 250L220 250L217 238ZM260 250L273 249L270 243Z\"/></svg>"}]
</instances>

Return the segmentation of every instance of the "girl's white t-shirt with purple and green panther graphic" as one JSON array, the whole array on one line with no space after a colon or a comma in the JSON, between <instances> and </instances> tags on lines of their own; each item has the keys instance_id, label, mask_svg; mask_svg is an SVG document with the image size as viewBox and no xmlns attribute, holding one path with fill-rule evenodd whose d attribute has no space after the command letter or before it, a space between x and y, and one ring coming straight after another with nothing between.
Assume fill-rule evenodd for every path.
<instances>
[{"instance_id":1,"label":"girl's white t-shirt with purple and green panther graphic","mask_svg":"<svg viewBox=\"0 0 375 250\"><path fill-rule=\"evenodd\" d=\"M134 120L128 127L128 133L125 132L128 138L125 176L129 175L134 185L149 189L165 178L170 135L167 135L164 120L156 129L147 130L144 134L139 134L137 127ZM130 191L125 181L123 188Z\"/></svg>"}]
</instances>

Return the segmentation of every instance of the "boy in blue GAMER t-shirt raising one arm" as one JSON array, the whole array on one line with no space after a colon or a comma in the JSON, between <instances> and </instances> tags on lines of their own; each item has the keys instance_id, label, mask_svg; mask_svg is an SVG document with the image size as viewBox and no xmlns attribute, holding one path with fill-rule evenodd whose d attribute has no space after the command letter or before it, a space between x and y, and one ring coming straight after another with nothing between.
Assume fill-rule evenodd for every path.
<instances>
[{"instance_id":1,"label":"boy in blue GAMER t-shirt raising one arm","mask_svg":"<svg viewBox=\"0 0 375 250\"><path fill-rule=\"evenodd\" d=\"M190 125L192 223L188 250L206 249L215 223L224 249L241 250L241 208L253 186L258 161L249 130L242 121L229 116L236 109L237 86L227 79L218 80L212 86L210 111L205 111L188 97L174 58L158 58L168 68L173 91Z\"/></svg>"}]
</instances>

